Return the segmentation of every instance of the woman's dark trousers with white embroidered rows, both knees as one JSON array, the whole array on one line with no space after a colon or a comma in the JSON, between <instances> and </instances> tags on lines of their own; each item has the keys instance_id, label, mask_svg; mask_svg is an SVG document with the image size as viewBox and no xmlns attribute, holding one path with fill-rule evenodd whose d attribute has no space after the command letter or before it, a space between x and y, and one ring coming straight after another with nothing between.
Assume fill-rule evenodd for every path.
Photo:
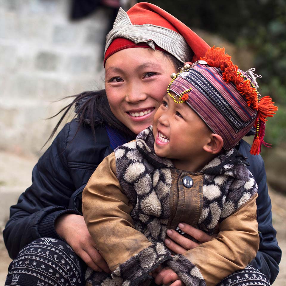
<instances>
[{"instance_id":1,"label":"woman's dark trousers with white embroidered rows, both knees","mask_svg":"<svg viewBox=\"0 0 286 286\"><path fill-rule=\"evenodd\" d=\"M83 286L86 265L65 242L39 238L11 262L5 286ZM156 285L152 283L151 285ZM217 286L270 286L267 277L248 265Z\"/></svg>"}]
</instances>

